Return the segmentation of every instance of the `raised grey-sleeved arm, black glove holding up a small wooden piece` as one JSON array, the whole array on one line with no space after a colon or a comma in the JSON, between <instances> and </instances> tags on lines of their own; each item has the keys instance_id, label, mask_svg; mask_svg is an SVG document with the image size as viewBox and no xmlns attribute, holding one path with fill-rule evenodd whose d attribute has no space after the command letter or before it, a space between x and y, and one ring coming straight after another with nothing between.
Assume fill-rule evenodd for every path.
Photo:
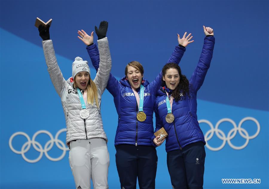
<instances>
[{"instance_id":1,"label":"raised grey-sleeved arm, black glove holding up a small wooden piece","mask_svg":"<svg viewBox=\"0 0 269 189\"><path fill-rule=\"evenodd\" d=\"M61 97L61 92L67 85L64 77L62 76L62 72L57 64L57 60L55 57L55 52L52 44L52 40L50 39L49 27L44 27L39 25L39 36L43 39L43 51L45 55L46 64L48 66L48 72L51 77L51 81L56 89L56 92Z\"/></svg>"}]
</instances>

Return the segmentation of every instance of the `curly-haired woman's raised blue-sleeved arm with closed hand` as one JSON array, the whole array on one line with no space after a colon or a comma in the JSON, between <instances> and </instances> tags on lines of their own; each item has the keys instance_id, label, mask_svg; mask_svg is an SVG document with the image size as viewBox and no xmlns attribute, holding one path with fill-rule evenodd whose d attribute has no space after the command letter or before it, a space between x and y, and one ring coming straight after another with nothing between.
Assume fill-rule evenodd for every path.
<instances>
[{"instance_id":1,"label":"curly-haired woman's raised blue-sleeved arm with closed hand","mask_svg":"<svg viewBox=\"0 0 269 189\"><path fill-rule=\"evenodd\" d=\"M213 29L205 26L203 26L203 28L206 37L204 38L202 53L200 55L198 65L189 80L190 86L194 92L197 92L204 83L204 78L213 57L213 49L215 44Z\"/></svg>"}]
</instances>

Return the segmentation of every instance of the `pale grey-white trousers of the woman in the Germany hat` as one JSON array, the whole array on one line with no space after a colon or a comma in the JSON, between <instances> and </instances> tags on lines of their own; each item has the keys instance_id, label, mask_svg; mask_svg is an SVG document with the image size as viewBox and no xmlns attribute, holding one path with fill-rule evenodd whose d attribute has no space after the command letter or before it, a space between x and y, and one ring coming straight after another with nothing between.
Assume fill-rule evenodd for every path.
<instances>
[{"instance_id":1,"label":"pale grey-white trousers of the woman in the Germany hat","mask_svg":"<svg viewBox=\"0 0 269 189\"><path fill-rule=\"evenodd\" d=\"M92 138L70 142L69 164L77 189L108 188L109 153L106 140Z\"/></svg>"}]
</instances>

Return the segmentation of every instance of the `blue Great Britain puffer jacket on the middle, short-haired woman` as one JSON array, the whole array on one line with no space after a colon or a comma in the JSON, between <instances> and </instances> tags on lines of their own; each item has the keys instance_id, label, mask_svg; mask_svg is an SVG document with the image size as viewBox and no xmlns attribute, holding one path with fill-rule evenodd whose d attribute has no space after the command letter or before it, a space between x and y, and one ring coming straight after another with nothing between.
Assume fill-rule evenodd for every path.
<instances>
[{"instance_id":1,"label":"blue Great Britain puffer jacket on the middle, short-haired woman","mask_svg":"<svg viewBox=\"0 0 269 189\"><path fill-rule=\"evenodd\" d=\"M95 44L87 47L88 54L90 55L91 62L94 68L98 70L99 67L99 52ZM176 46L169 62L179 63L185 48ZM153 135L153 111L154 101L156 99L156 92L161 86L162 74L161 72L154 81L149 83L147 80L142 79L144 88L144 104L143 112L146 114L146 120L140 122L137 120L138 113L137 101L134 92L130 86L126 76L118 81L111 73L108 79L106 89L113 95L115 107L118 113L118 126L115 136L115 146L119 144L132 144L132 145L153 145L151 137ZM140 88L137 89L140 95Z\"/></svg>"}]
</instances>

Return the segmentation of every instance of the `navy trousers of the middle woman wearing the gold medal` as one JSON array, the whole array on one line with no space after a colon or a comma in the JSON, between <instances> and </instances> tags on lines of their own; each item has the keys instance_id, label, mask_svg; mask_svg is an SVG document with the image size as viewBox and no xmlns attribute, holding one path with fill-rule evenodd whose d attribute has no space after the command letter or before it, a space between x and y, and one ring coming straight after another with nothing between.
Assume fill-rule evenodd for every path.
<instances>
[{"instance_id":1,"label":"navy trousers of the middle woman wearing the gold medal","mask_svg":"<svg viewBox=\"0 0 269 189\"><path fill-rule=\"evenodd\" d=\"M121 189L154 189L157 171L157 152L153 146L120 144L116 146L116 165Z\"/></svg>"}]
</instances>

